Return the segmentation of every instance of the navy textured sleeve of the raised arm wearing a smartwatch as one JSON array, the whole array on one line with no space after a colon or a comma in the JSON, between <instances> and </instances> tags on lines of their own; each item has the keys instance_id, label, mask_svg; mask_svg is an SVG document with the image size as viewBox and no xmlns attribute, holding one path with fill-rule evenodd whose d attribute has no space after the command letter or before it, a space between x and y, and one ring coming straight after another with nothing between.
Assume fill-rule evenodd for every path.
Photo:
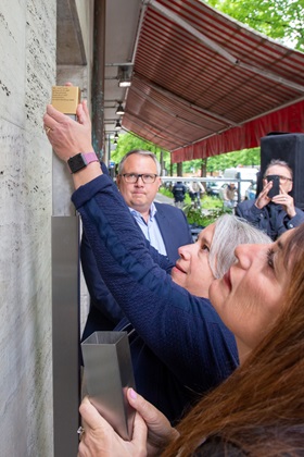
<instances>
[{"instance_id":1,"label":"navy textured sleeve of the raised arm wearing a smartwatch","mask_svg":"<svg viewBox=\"0 0 304 457\"><path fill-rule=\"evenodd\" d=\"M102 277L143 342L180 382L206 390L238 365L236 341L208 300L191 296L152 259L107 176L72 197Z\"/></svg>"}]
</instances>

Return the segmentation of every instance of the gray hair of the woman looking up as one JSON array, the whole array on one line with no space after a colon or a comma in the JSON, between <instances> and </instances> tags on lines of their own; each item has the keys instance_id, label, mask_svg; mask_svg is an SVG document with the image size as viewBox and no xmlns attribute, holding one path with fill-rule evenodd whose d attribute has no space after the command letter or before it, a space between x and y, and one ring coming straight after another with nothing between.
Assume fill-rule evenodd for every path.
<instances>
[{"instance_id":1,"label":"gray hair of the woman looking up","mask_svg":"<svg viewBox=\"0 0 304 457\"><path fill-rule=\"evenodd\" d=\"M232 214L220 215L215 222L215 231L210 249L208 262L216 279L223 277L237 261L235 249L243 244L273 243L264 232L252 226L246 220Z\"/></svg>"}]
</instances>

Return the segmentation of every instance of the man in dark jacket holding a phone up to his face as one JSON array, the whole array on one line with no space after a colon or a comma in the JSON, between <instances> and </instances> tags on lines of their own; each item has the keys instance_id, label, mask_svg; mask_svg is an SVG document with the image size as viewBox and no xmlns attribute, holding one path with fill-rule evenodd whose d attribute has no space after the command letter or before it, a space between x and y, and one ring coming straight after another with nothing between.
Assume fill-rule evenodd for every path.
<instances>
[{"instance_id":1,"label":"man in dark jacket holding a phone up to his face","mask_svg":"<svg viewBox=\"0 0 304 457\"><path fill-rule=\"evenodd\" d=\"M278 193L274 193L276 181ZM262 192L255 200L239 203L236 214L246 219L276 240L287 230L304 222L304 212L294 206L293 198L289 195L291 189L291 168L282 160L271 160L264 174Z\"/></svg>"}]
</instances>

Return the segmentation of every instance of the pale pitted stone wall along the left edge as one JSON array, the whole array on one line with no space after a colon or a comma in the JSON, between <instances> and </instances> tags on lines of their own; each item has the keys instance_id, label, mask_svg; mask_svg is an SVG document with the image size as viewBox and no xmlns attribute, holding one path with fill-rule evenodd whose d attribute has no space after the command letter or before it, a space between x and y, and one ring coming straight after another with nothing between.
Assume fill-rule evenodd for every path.
<instances>
[{"instance_id":1,"label":"pale pitted stone wall along the left edge","mask_svg":"<svg viewBox=\"0 0 304 457\"><path fill-rule=\"evenodd\" d=\"M56 3L0 2L1 457L53 455L52 151L42 115L56 83Z\"/></svg>"}]
</instances>

